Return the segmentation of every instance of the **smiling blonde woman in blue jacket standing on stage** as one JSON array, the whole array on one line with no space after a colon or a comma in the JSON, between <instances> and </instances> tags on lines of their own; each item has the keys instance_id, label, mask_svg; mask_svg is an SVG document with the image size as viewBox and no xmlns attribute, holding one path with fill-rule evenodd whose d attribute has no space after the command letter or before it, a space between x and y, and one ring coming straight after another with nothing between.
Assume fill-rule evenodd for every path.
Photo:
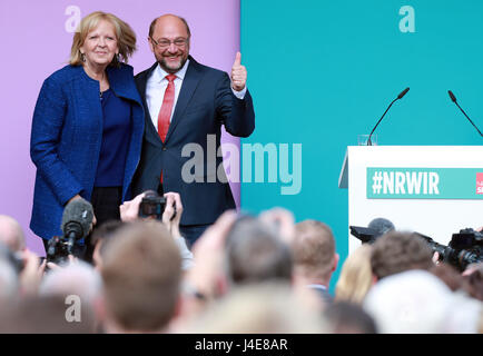
<instances>
[{"instance_id":1,"label":"smiling blonde woman in blue jacket standing on stage","mask_svg":"<svg viewBox=\"0 0 483 356\"><path fill-rule=\"evenodd\" d=\"M131 198L144 109L132 67L124 62L135 50L129 24L110 13L90 13L73 36L70 63L42 85L30 141L37 166L30 228L45 246L61 235L70 200L91 201L100 225L119 219L119 205Z\"/></svg>"}]
</instances>

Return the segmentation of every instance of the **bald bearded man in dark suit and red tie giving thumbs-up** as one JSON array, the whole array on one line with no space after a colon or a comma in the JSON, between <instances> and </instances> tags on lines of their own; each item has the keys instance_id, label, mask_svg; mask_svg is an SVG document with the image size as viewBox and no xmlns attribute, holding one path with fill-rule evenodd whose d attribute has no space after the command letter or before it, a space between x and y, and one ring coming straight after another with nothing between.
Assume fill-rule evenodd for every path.
<instances>
[{"instance_id":1,"label":"bald bearded man in dark suit and red tie giving thumbs-up","mask_svg":"<svg viewBox=\"0 0 483 356\"><path fill-rule=\"evenodd\" d=\"M190 57L189 39L187 22L177 16L161 16L149 28L157 62L136 76L146 129L134 191L179 192L181 235L193 245L223 211L235 208L217 155L221 125L234 136L248 137L255 113L241 55L228 77Z\"/></svg>"}]
</instances>

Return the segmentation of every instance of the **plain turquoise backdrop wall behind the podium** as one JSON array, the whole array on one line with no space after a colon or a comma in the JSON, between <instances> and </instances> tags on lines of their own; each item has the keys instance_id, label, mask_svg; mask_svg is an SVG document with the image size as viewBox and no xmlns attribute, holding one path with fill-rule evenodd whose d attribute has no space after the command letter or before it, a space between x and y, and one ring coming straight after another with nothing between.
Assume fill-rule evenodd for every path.
<instances>
[{"instance_id":1,"label":"plain turquoise backdrop wall behind the podium","mask_svg":"<svg viewBox=\"0 0 483 356\"><path fill-rule=\"evenodd\" d=\"M415 32L402 32L414 9ZM410 28L411 29L411 28ZM302 190L244 182L241 207L274 206L327 222L347 256L347 190L337 181L347 146L377 128L378 145L482 145L451 102L483 129L483 2L241 0L241 53L256 129L241 144L302 144ZM292 149L290 149L292 152ZM265 181L267 181L265 162ZM292 167L292 162L290 166ZM334 290L334 276L331 289Z\"/></svg>"}]
</instances>

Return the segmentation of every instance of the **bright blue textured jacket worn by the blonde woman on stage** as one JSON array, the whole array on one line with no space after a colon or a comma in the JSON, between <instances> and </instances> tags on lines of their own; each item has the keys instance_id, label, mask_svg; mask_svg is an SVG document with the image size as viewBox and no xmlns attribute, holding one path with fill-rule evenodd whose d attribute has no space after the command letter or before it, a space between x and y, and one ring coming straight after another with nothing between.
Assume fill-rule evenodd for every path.
<instances>
[{"instance_id":1,"label":"bright blue textured jacket worn by the blonde woman on stage","mask_svg":"<svg viewBox=\"0 0 483 356\"><path fill-rule=\"evenodd\" d=\"M141 152L144 108L132 67L108 67L106 72L116 96L132 102L124 201L131 197L130 181ZM37 175L30 228L36 235L60 235L63 206L77 194L90 201L101 142L99 82L81 66L66 66L45 80L33 112L30 157Z\"/></svg>"}]
</instances>

